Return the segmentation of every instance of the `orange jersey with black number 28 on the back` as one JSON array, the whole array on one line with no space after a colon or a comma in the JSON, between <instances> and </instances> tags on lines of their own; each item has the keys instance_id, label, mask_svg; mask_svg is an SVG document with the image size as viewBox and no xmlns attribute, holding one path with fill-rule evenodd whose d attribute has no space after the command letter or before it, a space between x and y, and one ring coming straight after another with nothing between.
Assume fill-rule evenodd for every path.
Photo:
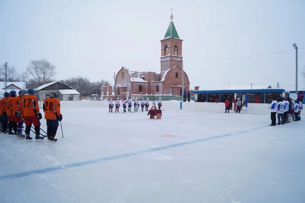
<instances>
[{"instance_id":1,"label":"orange jersey with black number 28 on the back","mask_svg":"<svg viewBox=\"0 0 305 203\"><path fill-rule=\"evenodd\" d=\"M43 101L43 111L45 112L45 119L56 120L56 114L58 116L60 113L60 102L56 98L46 98Z\"/></svg>"}]
</instances>

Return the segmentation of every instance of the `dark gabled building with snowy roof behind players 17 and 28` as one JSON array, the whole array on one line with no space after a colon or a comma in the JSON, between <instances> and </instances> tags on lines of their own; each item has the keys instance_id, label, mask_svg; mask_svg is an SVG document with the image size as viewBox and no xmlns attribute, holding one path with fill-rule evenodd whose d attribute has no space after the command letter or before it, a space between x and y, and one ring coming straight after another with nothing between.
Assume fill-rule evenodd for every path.
<instances>
[{"instance_id":1,"label":"dark gabled building with snowy roof behind players 17 and 28","mask_svg":"<svg viewBox=\"0 0 305 203\"><path fill-rule=\"evenodd\" d=\"M59 81L41 85L34 90L38 101L43 101L45 98L50 97L51 92L56 92L60 101L79 101L81 96L74 88Z\"/></svg>"}]
</instances>

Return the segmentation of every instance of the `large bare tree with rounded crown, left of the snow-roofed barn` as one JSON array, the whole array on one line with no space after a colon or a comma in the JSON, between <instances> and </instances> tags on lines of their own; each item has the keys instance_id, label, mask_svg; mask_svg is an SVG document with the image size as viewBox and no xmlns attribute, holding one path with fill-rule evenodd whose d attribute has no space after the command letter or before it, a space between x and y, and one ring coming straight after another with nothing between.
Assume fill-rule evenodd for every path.
<instances>
[{"instance_id":1,"label":"large bare tree with rounded crown, left of the snow-roofed barn","mask_svg":"<svg viewBox=\"0 0 305 203\"><path fill-rule=\"evenodd\" d=\"M46 59L31 60L25 71L25 77L32 88L54 81L56 66Z\"/></svg>"}]
</instances>

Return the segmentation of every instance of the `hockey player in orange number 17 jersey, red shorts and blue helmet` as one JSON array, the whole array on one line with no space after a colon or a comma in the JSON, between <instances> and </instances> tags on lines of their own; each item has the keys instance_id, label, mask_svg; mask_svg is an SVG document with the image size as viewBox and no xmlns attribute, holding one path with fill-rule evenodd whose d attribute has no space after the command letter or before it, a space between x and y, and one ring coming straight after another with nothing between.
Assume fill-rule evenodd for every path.
<instances>
[{"instance_id":1,"label":"hockey player in orange number 17 jersey, red shorts and blue helmet","mask_svg":"<svg viewBox=\"0 0 305 203\"><path fill-rule=\"evenodd\" d=\"M42 115L39 112L39 106L38 106L38 101L37 97L34 96L34 89L30 88L27 90L27 93L29 95L25 95L22 98L22 111L24 114L24 120L25 120L25 139L26 140L31 140L32 137L30 137L30 130L31 126L33 124L35 128L35 140L36 141L41 141L44 140L45 138L40 136L40 119L42 119Z\"/></svg>"}]
</instances>

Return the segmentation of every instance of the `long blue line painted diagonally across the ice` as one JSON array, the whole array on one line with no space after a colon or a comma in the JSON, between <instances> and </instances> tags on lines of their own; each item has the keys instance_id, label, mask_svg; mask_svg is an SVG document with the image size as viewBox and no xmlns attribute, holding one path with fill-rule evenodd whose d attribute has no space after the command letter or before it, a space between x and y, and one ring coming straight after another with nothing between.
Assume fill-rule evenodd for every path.
<instances>
[{"instance_id":1,"label":"long blue line painted diagonally across the ice","mask_svg":"<svg viewBox=\"0 0 305 203\"><path fill-rule=\"evenodd\" d=\"M105 157L105 158L98 158L98 159L84 161L84 162L72 163L72 164L67 164L67 165L62 165L62 166L55 166L55 167L50 167L50 168L45 168L45 169L37 169L37 170L26 171L26 172L22 172L22 173L9 174L9 175L5 175L5 176L0 176L0 181L7 180L7 179L13 179L13 178L20 178L20 177L30 176L30 175L35 175L35 174L48 173L48 172L51 172L51 171L58 171L58 170L67 169L67 168L74 168L74 167L84 166L84 165L98 163L98 162L105 162L105 161L110 161L110 160L114 160L114 159L118 159L118 158L124 158L124 157L144 154L144 153L150 153L150 152L154 152L154 151L160 151L160 150L163 150L163 149L180 147L180 146L183 146L183 145L186 145L186 144L194 144L194 143L213 140L213 139L217 139L217 138L221 138L221 137L228 137L228 136L235 135L235 134L251 132L253 130L260 130L260 129L263 129L265 127L268 127L268 126L257 127L257 128L253 128L253 129L250 129L250 130L242 130L242 131L238 131L238 132L235 132L235 133L217 135L217 136L214 136L214 137L206 137L206 138L202 138L202 139L199 139L199 140L181 142L181 143L171 144L171 145L167 145L167 146L163 146L163 147L157 147L157 148L152 148L152 149L147 149L147 150L135 151L135 152L127 153L127 154L109 156L109 157Z\"/></svg>"}]
</instances>

